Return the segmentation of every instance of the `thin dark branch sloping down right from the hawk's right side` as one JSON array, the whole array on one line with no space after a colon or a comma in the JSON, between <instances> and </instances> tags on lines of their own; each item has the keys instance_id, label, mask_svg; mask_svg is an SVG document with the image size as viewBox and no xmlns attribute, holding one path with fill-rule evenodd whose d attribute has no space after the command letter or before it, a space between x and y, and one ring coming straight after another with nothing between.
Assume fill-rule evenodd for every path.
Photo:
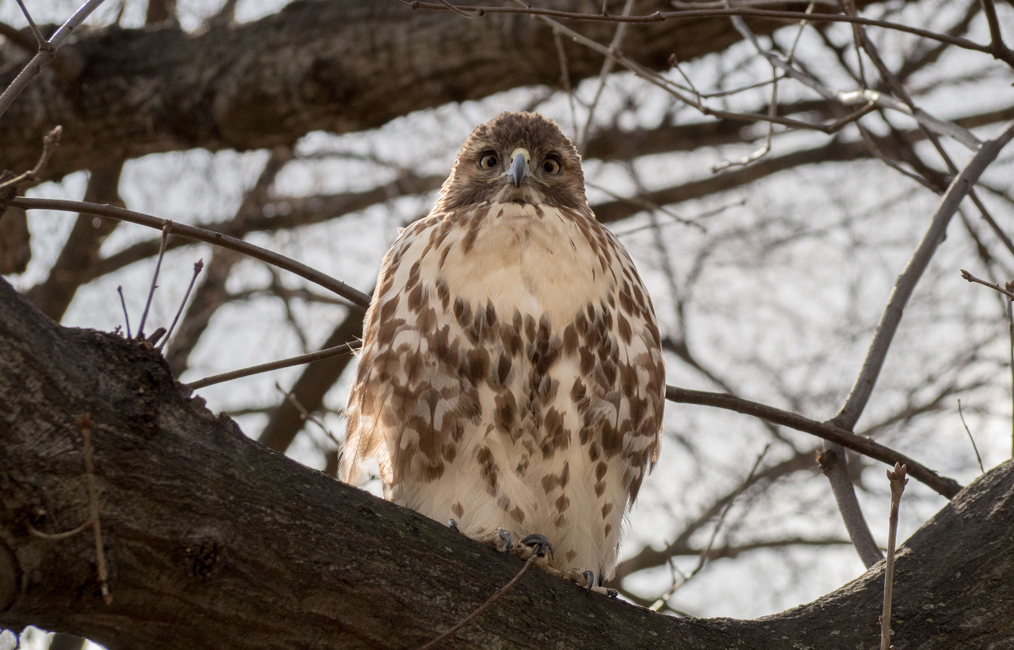
<instances>
[{"instance_id":1,"label":"thin dark branch sloping down right from the hawk's right side","mask_svg":"<svg viewBox=\"0 0 1014 650\"><path fill-rule=\"evenodd\" d=\"M665 386L665 399L669 402L680 404L697 404L735 411L736 413L760 418L762 420L767 420L773 424L780 424L796 431L809 433L823 440L829 440L864 456L869 456L887 464L901 462L910 467L910 474L914 479L926 484L934 492L948 499L953 498L961 490L961 485L957 481L941 477L933 470L913 460L903 453L874 442L866 436L858 436L851 431L836 426L834 421L817 422L796 413L782 411L775 407L750 402L749 400L743 400L742 398L728 393L689 390L672 385Z\"/></svg>"}]
</instances>

